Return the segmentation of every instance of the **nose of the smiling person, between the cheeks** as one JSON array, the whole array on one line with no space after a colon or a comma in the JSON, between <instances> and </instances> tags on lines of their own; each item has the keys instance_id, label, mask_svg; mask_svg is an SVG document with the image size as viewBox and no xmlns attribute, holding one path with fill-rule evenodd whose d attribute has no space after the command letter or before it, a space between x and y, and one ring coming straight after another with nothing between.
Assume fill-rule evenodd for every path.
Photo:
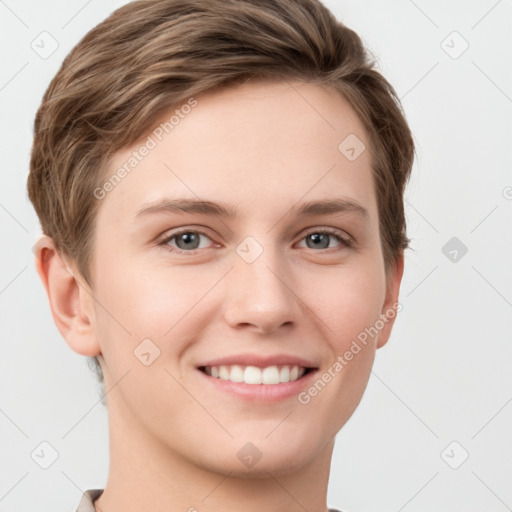
<instances>
[{"instance_id":1,"label":"nose of the smiling person, between the cheeks","mask_svg":"<svg viewBox=\"0 0 512 512\"><path fill-rule=\"evenodd\" d=\"M234 254L224 300L226 322L236 329L271 334L295 325L303 315L283 255L265 247L253 262Z\"/></svg>"}]
</instances>

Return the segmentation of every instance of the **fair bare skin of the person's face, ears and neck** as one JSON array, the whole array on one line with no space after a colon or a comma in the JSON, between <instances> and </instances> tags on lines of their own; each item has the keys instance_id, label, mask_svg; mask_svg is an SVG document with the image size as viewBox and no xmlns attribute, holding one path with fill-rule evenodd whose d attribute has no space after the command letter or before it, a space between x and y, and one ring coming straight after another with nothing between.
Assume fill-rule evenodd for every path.
<instances>
[{"instance_id":1,"label":"fair bare skin of the person's face, ears and neck","mask_svg":"<svg viewBox=\"0 0 512 512\"><path fill-rule=\"evenodd\" d=\"M101 200L92 290L51 239L37 250L56 325L75 352L100 356L105 376L110 471L96 510L325 512L335 436L393 319L307 404L242 400L206 386L196 365L286 353L315 361L321 375L396 305L403 256L386 275L369 139L350 105L317 85L245 83L197 101ZM354 161L338 150L349 134L367 148ZM118 152L106 176L138 147ZM149 202L177 197L238 215L135 219ZM292 210L335 198L358 202L367 220ZM177 238L158 245L177 228L206 236L188 252ZM329 237L318 248L307 235L320 228L353 245ZM263 249L252 263L236 252L249 236ZM146 338L160 350L150 366L134 357ZM262 453L250 468L237 456L248 442Z\"/></svg>"}]
</instances>

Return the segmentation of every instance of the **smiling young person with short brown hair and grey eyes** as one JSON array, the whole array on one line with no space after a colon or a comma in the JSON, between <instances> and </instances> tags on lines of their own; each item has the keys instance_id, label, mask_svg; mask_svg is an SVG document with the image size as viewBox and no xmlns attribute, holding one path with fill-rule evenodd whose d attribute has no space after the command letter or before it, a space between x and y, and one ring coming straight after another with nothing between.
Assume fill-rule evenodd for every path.
<instances>
[{"instance_id":1,"label":"smiling young person with short brown hair and grey eyes","mask_svg":"<svg viewBox=\"0 0 512 512\"><path fill-rule=\"evenodd\" d=\"M54 321L104 379L80 512L327 510L400 309L413 154L318 0L135 1L78 43L28 191Z\"/></svg>"}]
</instances>

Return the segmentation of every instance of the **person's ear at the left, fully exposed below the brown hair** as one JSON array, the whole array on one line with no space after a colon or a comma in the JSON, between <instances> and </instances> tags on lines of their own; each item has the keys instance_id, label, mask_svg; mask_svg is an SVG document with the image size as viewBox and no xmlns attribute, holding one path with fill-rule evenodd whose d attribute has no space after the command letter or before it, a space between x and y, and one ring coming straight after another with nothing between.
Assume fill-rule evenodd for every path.
<instances>
[{"instance_id":1,"label":"person's ear at the left, fully exposed below the brown hair","mask_svg":"<svg viewBox=\"0 0 512 512\"><path fill-rule=\"evenodd\" d=\"M72 350L84 356L101 353L95 335L92 291L70 268L46 235L34 246L37 273L50 302L53 320Z\"/></svg>"}]
</instances>

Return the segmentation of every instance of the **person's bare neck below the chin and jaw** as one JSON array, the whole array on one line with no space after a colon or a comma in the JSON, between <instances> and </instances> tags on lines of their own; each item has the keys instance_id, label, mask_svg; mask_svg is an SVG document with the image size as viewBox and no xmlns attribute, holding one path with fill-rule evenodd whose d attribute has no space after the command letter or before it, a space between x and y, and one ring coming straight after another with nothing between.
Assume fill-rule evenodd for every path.
<instances>
[{"instance_id":1,"label":"person's bare neck below the chin and jaw","mask_svg":"<svg viewBox=\"0 0 512 512\"><path fill-rule=\"evenodd\" d=\"M97 512L327 511L334 438L292 471L219 471L184 458L133 418L126 421L128 416L109 403L110 467L105 490L94 503Z\"/></svg>"}]
</instances>

